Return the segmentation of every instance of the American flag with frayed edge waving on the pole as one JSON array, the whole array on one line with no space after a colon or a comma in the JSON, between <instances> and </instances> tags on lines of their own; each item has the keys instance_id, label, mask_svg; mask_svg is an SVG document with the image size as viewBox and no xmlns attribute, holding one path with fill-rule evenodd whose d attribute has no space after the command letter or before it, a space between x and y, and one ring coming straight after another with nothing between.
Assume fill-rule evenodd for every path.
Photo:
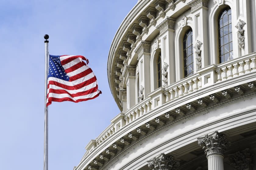
<instances>
[{"instance_id":1,"label":"American flag with frayed edge waving on the pole","mask_svg":"<svg viewBox=\"0 0 256 170\"><path fill-rule=\"evenodd\" d=\"M52 101L77 103L94 99L101 94L88 63L84 56L49 55L46 106L52 104Z\"/></svg>"}]
</instances>

